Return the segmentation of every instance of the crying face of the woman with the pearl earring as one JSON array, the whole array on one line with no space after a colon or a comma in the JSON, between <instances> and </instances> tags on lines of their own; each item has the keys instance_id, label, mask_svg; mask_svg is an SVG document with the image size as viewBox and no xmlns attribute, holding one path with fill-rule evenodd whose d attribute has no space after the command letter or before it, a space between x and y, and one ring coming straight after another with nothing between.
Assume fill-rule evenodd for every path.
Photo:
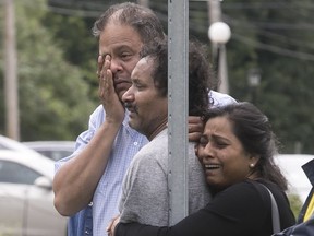
<instances>
[{"instance_id":1,"label":"crying face of the woman with the pearl earring","mask_svg":"<svg viewBox=\"0 0 314 236\"><path fill-rule=\"evenodd\" d=\"M245 152L232 131L232 123L225 116L206 122L197 156L203 164L207 184L216 190L245 179L251 173L250 164L255 165L257 162Z\"/></svg>"}]
</instances>

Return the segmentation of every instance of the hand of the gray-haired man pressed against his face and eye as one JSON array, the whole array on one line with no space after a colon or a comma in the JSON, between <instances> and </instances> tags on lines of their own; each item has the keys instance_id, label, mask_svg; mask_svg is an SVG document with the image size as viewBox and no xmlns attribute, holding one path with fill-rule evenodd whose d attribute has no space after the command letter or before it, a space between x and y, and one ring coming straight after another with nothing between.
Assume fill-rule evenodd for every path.
<instances>
[{"instance_id":1,"label":"hand of the gray-haired man pressed against his face and eye","mask_svg":"<svg viewBox=\"0 0 314 236\"><path fill-rule=\"evenodd\" d=\"M110 62L111 57L109 55L98 57L98 96L106 110L106 120L121 123L124 118L124 107L114 91Z\"/></svg>"}]
</instances>

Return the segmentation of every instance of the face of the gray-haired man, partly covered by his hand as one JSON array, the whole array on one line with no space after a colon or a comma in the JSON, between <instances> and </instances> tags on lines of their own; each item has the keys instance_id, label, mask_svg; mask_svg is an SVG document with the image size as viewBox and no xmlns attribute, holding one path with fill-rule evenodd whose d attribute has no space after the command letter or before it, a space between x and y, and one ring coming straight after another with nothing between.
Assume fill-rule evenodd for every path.
<instances>
[{"instance_id":1,"label":"face of the gray-haired man, partly covered by his hand","mask_svg":"<svg viewBox=\"0 0 314 236\"><path fill-rule=\"evenodd\" d=\"M129 25L110 22L100 34L99 55L111 56L110 70L120 99L131 86L131 73L140 60L142 46L140 35Z\"/></svg>"}]
</instances>

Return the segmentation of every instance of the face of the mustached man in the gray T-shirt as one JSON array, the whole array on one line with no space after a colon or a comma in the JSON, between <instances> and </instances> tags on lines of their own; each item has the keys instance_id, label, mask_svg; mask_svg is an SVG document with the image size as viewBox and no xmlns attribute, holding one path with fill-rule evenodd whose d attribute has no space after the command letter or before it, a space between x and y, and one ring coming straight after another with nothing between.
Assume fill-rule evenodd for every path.
<instances>
[{"instance_id":1,"label":"face of the mustached man in the gray T-shirt","mask_svg":"<svg viewBox=\"0 0 314 236\"><path fill-rule=\"evenodd\" d=\"M131 75L132 86L122 96L130 111L130 127L148 139L168 116L168 99L154 84L153 68L154 61L149 57L141 59Z\"/></svg>"}]
</instances>

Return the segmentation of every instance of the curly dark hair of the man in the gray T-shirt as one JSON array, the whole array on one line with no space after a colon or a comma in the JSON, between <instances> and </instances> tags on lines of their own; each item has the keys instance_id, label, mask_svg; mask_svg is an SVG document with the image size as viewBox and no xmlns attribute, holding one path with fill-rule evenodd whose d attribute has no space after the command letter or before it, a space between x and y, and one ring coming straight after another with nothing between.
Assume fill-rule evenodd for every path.
<instances>
[{"instance_id":1,"label":"curly dark hair of the man in the gray T-shirt","mask_svg":"<svg viewBox=\"0 0 314 236\"><path fill-rule=\"evenodd\" d=\"M154 44L154 46L152 45ZM168 95L168 46L165 40L144 46L140 56L154 60L152 78L161 96ZM202 116L210 106L209 91L213 73L206 57L206 47L191 39L189 42L189 115Z\"/></svg>"}]
</instances>

